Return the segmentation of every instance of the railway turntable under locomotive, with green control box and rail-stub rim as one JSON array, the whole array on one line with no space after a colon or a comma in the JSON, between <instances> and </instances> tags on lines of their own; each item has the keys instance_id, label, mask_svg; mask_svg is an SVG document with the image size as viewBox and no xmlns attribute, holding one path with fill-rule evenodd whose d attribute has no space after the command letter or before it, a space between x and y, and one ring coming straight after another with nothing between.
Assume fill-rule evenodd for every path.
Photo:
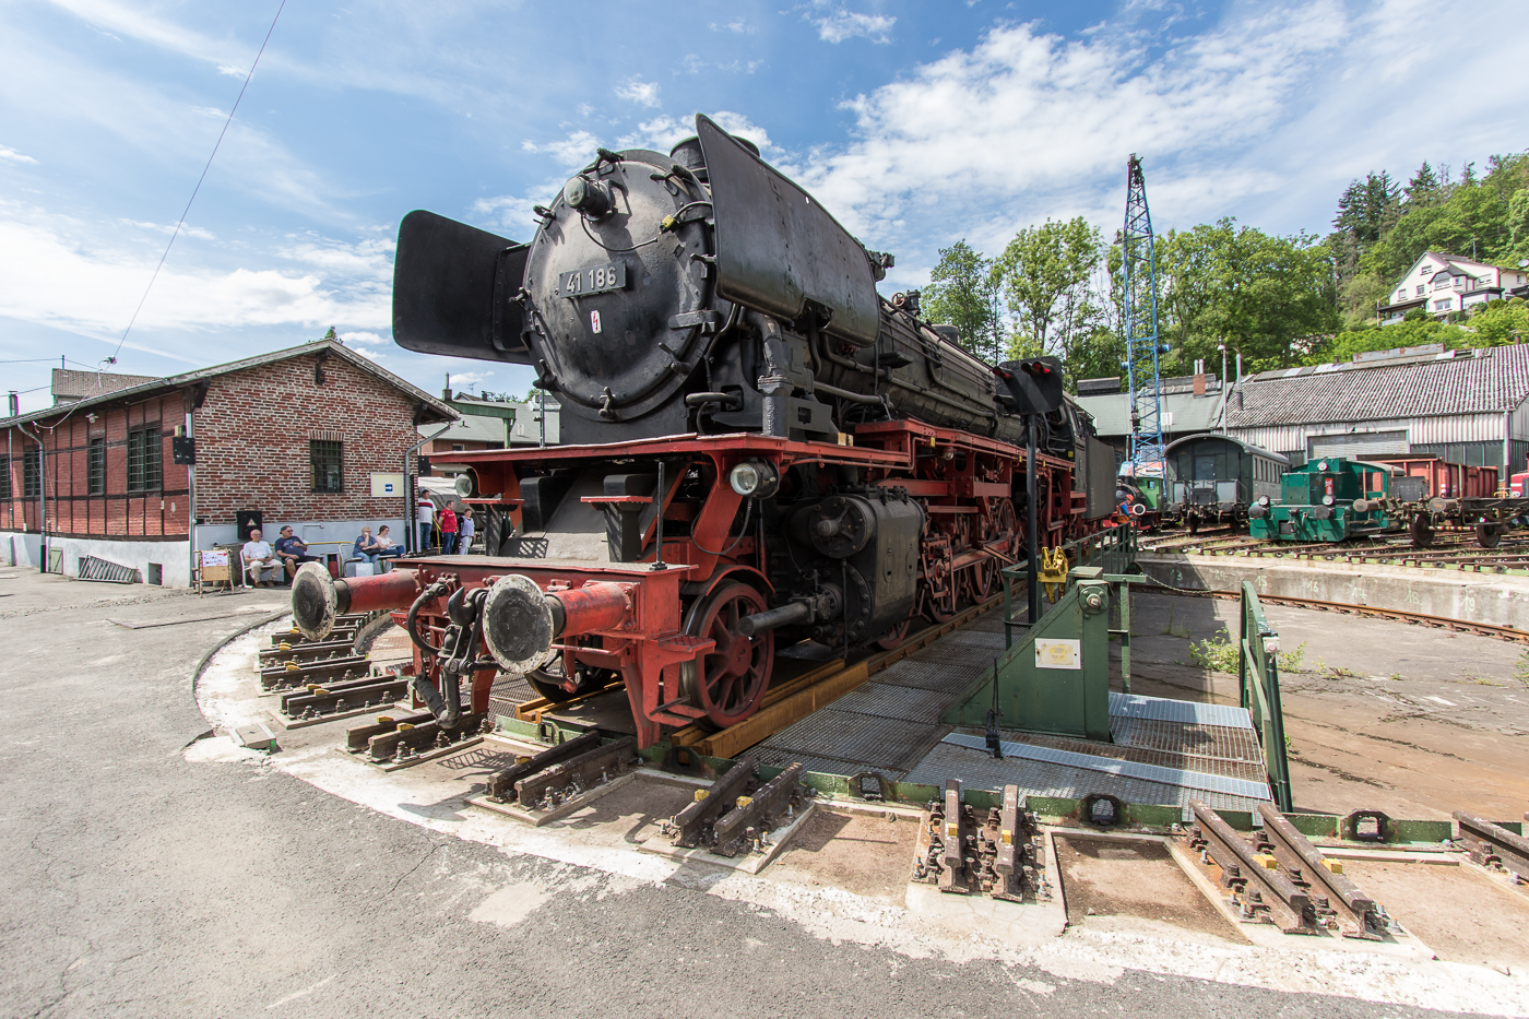
<instances>
[{"instance_id":1,"label":"railway turntable under locomotive, with green control box and rail-stub rim","mask_svg":"<svg viewBox=\"0 0 1529 1019\"><path fill-rule=\"evenodd\" d=\"M1277 635L1254 600L1248 707L1122 689L1151 675L1128 641L1127 595L1142 583L1125 572L1128 534L1070 548L1084 565L1035 626L998 595L847 663L806 646L781 656L746 728L679 728L648 748L636 747L616 684L552 702L506 679L488 711L462 704L459 727L443 730L425 705L398 698L413 658L405 627L356 647L385 614L347 617L355 636L333 647L272 624L269 636L251 635L235 669L226 653L239 646L214 655L199 692L220 728L257 718L271 728L271 748L243 753L373 809L624 880L784 897L810 904L813 923L875 915L890 930L1027 952L1124 932L1161 944L1165 959L1183 946L1258 946L1278 958L1339 952L1420 967L1442 953L1521 965L1518 823L1312 814L1284 802L1287 765L1266 753L1284 745ZM372 675L318 675L352 658ZM274 659L283 684L266 690ZM312 667L313 679L287 679L284 661ZM347 701L341 715L346 682L394 699ZM310 716L283 728L283 705ZM1292 842L1295 857L1278 819L1306 842ZM1482 834L1488 843L1453 842ZM1313 872L1336 874L1330 866L1358 894L1339 901ZM1440 923L1448 897L1492 904L1488 933L1472 941L1457 920Z\"/></svg>"}]
</instances>

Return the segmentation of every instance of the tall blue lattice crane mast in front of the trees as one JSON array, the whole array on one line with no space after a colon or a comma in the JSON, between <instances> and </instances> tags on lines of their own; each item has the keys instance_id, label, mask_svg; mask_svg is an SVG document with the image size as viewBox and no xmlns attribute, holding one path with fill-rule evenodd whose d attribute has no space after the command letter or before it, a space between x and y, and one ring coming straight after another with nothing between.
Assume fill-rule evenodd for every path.
<instances>
[{"instance_id":1,"label":"tall blue lattice crane mast in front of the trees","mask_svg":"<svg viewBox=\"0 0 1529 1019\"><path fill-rule=\"evenodd\" d=\"M1157 263L1147 179L1136 153L1125 164L1121 256L1125 268L1125 381L1131 393L1128 461L1133 474L1151 476L1162 470L1162 373L1157 358L1168 352L1168 344L1157 338Z\"/></svg>"}]
</instances>

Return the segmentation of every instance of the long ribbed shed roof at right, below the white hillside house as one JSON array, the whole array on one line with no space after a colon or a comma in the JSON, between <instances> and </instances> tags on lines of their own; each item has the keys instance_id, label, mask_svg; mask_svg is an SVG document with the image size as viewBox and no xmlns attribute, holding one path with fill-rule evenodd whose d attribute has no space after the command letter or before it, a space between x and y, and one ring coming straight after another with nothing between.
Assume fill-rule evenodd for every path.
<instances>
[{"instance_id":1,"label":"long ribbed shed roof at right, below the white hillside house","mask_svg":"<svg viewBox=\"0 0 1529 1019\"><path fill-rule=\"evenodd\" d=\"M1234 390L1235 392L1235 390ZM1503 413L1529 398L1529 344L1404 364L1321 364L1242 381L1228 424L1260 425Z\"/></svg>"}]
</instances>

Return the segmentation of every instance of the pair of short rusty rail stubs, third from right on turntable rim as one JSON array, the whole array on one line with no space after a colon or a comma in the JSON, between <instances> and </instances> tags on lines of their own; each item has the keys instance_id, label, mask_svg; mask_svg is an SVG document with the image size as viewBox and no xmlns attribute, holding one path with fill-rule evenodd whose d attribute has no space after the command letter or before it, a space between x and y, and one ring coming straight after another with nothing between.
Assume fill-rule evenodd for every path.
<instances>
[{"instance_id":1,"label":"pair of short rusty rail stubs, third from right on turntable rim","mask_svg":"<svg viewBox=\"0 0 1529 1019\"><path fill-rule=\"evenodd\" d=\"M925 811L913 880L953 895L1049 901L1044 843L1018 786L1003 786L1003 805L980 814L959 780L946 782L943 800Z\"/></svg>"}]
</instances>

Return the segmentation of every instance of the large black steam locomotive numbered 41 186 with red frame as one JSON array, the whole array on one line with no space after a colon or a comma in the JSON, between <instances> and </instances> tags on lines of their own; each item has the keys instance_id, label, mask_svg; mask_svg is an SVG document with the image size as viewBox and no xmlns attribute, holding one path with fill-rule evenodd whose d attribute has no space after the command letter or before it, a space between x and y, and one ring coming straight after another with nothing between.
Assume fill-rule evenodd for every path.
<instances>
[{"instance_id":1,"label":"large black steam locomotive numbered 41 186 with red frame","mask_svg":"<svg viewBox=\"0 0 1529 1019\"><path fill-rule=\"evenodd\" d=\"M563 445L459 454L488 555L405 560L411 588L312 574L304 629L408 594L427 704L471 675L482 711L495 670L553 701L619 676L648 745L748 718L777 640L893 646L994 592L1023 554L1023 389L917 294L882 298L891 256L754 145L696 130L667 156L598 150L531 243L404 219L396 341L532 366ZM1040 431L1055 545L1112 514L1115 457L1075 404Z\"/></svg>"}]
</instances>

